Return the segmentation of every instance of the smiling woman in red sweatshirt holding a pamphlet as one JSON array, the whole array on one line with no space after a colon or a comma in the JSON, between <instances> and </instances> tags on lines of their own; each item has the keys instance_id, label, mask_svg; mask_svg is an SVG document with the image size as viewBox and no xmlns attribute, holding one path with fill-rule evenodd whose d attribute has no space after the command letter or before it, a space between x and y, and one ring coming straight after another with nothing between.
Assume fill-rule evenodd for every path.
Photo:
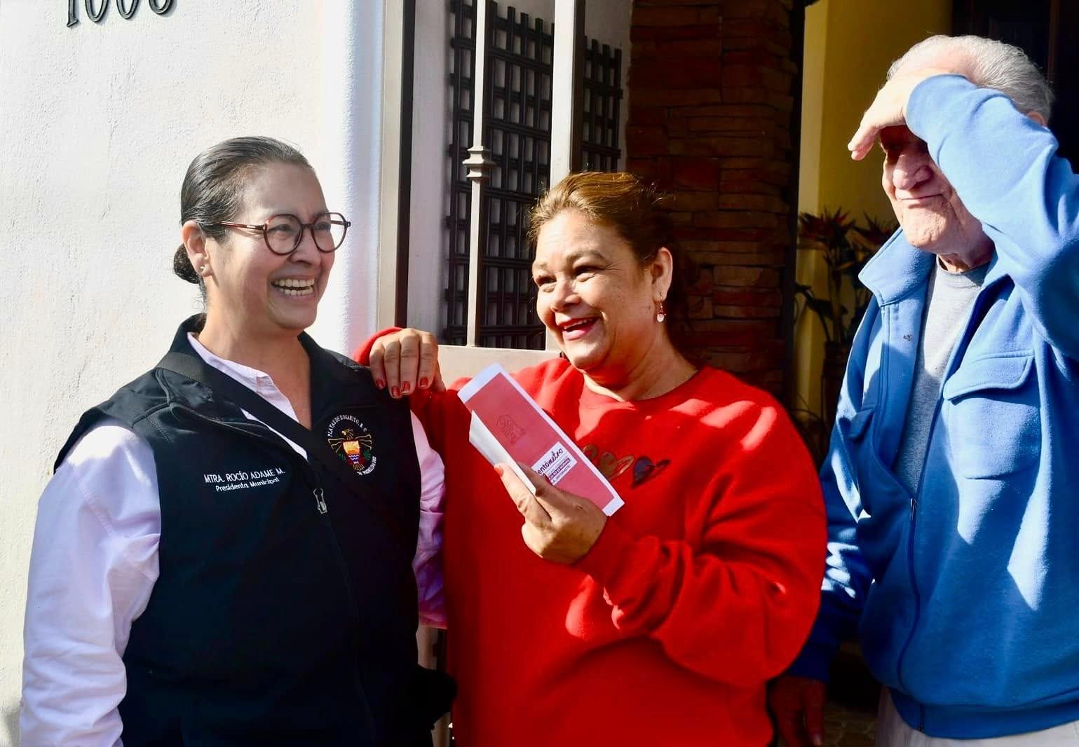
<instances>
[{"instance_id":1,"label":"smiling woman in red sweatshirt holding a pamphlet","mask_svg":"<svg viewBox=\"0 0 1079 747\"><path fill-rule=\"evenodd\" d=\"M398 378L401 349L431 354L429 335L360 352L392 390L419 379L413 411L446 462L463 747L765 745L765 681L816 614L814 466L775 400L680 352L660 199L628 174L571 175L530 227L537 312L564 359L515 378L625 500L613 516L546 484L532 497L469 445L468 412L431 371Z\"/></svg>"}]
</instances>

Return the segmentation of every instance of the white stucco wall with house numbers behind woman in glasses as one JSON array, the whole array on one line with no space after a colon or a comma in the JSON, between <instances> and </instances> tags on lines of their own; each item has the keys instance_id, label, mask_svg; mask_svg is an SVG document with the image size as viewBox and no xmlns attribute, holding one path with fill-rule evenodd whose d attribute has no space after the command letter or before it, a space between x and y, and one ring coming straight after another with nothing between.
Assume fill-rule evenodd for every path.
<instances>
[{"instance_id":1,"label":"white stucco wall with house numbers behind woman in glasses","mask_svg":"<svg viewBox=\"0 0 1079 747\"><path fill-rule=\"evenodd\" d=\"M99 5L100 0L95 2ZM128 3L129 4L129 3ZM100 24L0 0L0 744L17 742L37 497L79 414L148 369L197 309L172 275L179 186L237 135L297 144L353 221L314 334L373 327L380 0L176 0Z\"/></svg>"}]
</instances>

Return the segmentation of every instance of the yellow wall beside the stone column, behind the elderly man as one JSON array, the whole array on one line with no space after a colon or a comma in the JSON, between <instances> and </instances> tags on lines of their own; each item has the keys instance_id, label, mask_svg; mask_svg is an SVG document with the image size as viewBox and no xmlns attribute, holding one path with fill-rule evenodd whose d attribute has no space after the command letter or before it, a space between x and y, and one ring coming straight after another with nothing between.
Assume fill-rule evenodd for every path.
<instances>
[{"instance_id":1,"label":"yellow wall beside the stone column, behind the elderly man","mask_svg":"<svg viewBox=\"0 0 1079 747\"><path fill-rule=\"evenodd\" d=\"M802 155L798 210L842 207L890 218L880 189L880 162L853 162L847 141L862 112L884 83L893 59L912 44L952 28L952 0L820 0L806 9L802 86ZM798 282L827 291L823 263L798 252ZM820 412L820 366L824 335L811 315L798 320L797 392L804 406Z\"/></svg>"}]
</instances>

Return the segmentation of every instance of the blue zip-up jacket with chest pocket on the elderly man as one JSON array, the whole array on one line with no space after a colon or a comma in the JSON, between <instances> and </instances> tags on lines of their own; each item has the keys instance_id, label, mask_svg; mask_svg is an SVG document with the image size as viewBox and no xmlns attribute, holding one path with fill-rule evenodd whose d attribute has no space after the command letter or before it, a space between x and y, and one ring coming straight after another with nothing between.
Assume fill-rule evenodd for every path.
<instances>
[{"instance_id":1,"label":"blue zip-up jacket with chest pocket on the elderly man","mask_svg":"<svg viewBox=\"0 0 1079 747\"><path fill-rule=\"evenodd\" d=\"M933 736L1079 719L1079 177L1002 94L920 83L907 125L996 247L952 354L917 494L892 466L934 257L902 232L865 266L821 470L821 611L793 674L857 632L900 715Z\"/></svg>"}]
</instances>

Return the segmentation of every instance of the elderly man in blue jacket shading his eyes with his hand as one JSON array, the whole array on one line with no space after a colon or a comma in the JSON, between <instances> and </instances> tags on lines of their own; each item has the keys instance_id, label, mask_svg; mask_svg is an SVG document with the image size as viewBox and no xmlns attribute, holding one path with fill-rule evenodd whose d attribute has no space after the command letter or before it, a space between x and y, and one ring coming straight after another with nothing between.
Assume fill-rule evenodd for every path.
<instances>
[{"instance_id":1,"label":"elderly man in blue jacket shading his eyes with his hand","mask_svg":"<svg viewBox=\"0 0 1079 747\"><path fill-rule=\"evenodd\" d=\"M861 275L821 610L771 705L822 744L858 632L878 745L1079 744L1079 177L1019 50L933 37L888 79L849 148L879 141L902 230Z\"/></svg>"}]
</instances>

